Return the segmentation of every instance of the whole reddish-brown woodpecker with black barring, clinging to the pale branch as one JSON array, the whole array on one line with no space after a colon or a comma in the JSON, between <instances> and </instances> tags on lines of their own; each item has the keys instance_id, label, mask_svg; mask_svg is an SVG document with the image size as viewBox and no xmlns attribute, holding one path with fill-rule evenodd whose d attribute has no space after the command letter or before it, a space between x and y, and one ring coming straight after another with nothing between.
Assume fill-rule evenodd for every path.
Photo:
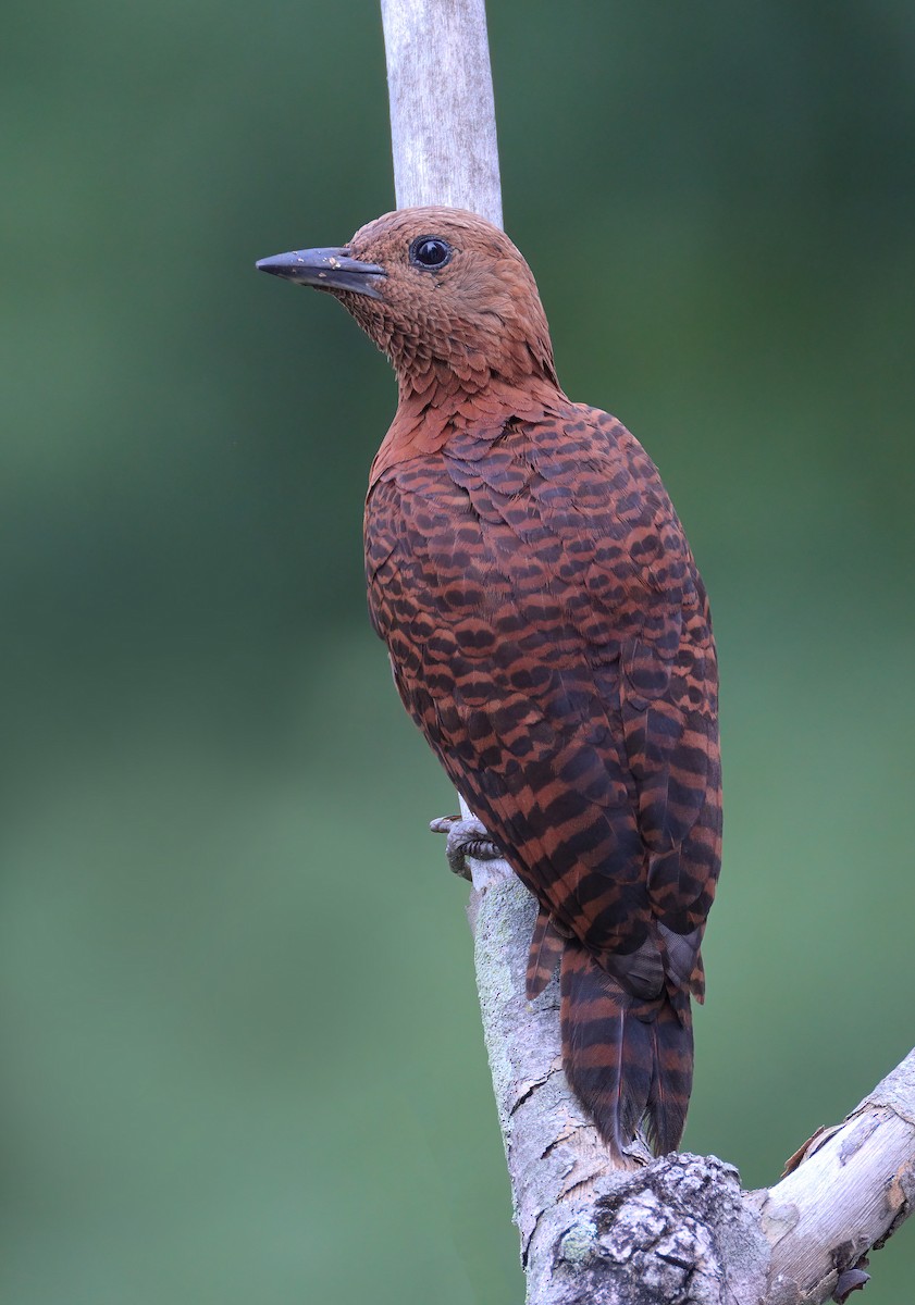
<instances>
[{"instance_id":1,"label":"whole reddish-brown woodpecker with black barring, clinging to the pale branch","mask_svg":"<svg viewBox=\"0 0 915 1305\"><path fill-rule=\"evenodd\" d=\"M640 1126L674 1151L722 788L709 600L659 472L565 395L534 275L484 218L399 209L257 266L334 295L393 364L364 514L372 624L536 898L527 997L559 966L564 1070L612 1161Z\"/></svg>"}]
</instances>

